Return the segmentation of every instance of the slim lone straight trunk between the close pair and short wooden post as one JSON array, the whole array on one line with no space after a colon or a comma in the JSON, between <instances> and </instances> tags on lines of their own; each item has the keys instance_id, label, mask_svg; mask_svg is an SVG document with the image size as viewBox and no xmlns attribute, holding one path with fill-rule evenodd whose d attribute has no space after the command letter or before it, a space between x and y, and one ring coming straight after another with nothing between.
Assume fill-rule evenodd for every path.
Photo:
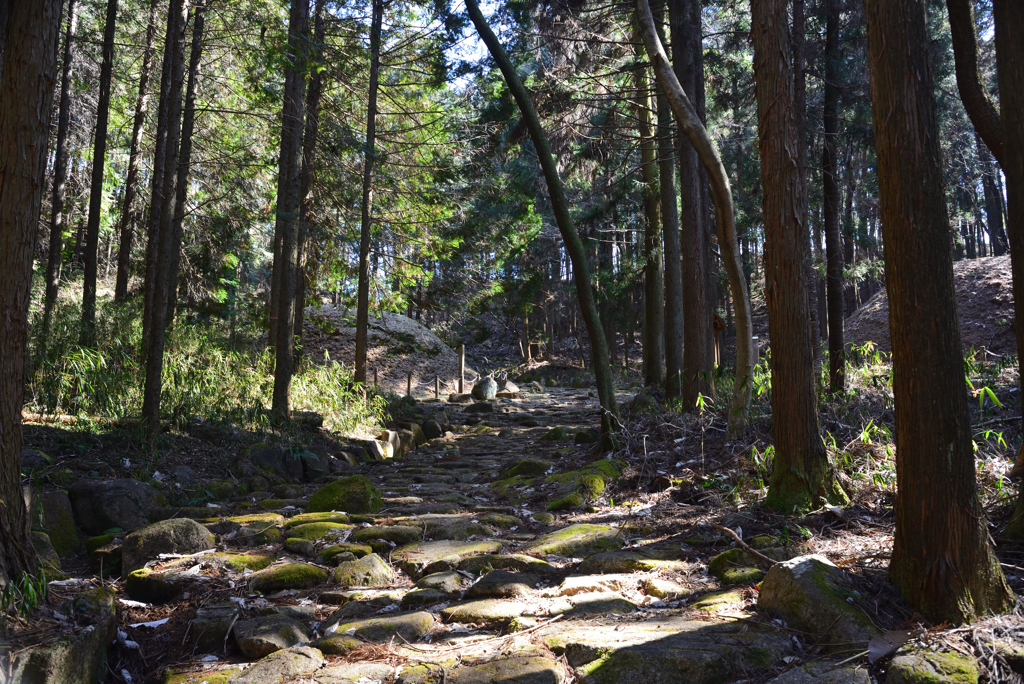
<instances>
[{"instance_id":1,"label":"slim lone straight trunk between the close pair and short wooden post","mask_svg":"<svg viewBox=\"0 0 1024 684\"><path fill-rule=\"evenodd\" d=\"M367 382L367 346L370 331L370 229L373 202L374 145L377 142L377 81L380 72L383 0L373 0L370 27L370 97L367 105L367 142L362 158L362 201L359 225L359 284L355 305L355 382Z\"/></svg>"}]
</instances>

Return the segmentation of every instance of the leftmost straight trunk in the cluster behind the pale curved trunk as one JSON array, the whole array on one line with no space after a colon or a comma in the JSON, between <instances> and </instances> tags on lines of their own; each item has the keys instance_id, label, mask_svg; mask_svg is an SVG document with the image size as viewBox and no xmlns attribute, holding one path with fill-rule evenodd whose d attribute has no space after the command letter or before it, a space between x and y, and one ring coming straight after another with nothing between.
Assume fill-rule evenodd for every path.
<instances>
[{"instance_id":1,"label":"leftmost straight trunk in the cluster behind the pale curved trunk","mask_svg":"<svg viewBox=\"0 0 1024 684\"><path fill-rule=\"evenodd\" d=\"M634 24L633 42L640 42ZM638 60L639 61L639 60ZM640 136L640 178L643 187L643 381L646 387L659 387L665 380L665 276L662 250L662 215L658 203L656 151L651 125L650 83L647 67L638 63L633 71L637 93L637 133Z\"/></svg>"}]
</instances>

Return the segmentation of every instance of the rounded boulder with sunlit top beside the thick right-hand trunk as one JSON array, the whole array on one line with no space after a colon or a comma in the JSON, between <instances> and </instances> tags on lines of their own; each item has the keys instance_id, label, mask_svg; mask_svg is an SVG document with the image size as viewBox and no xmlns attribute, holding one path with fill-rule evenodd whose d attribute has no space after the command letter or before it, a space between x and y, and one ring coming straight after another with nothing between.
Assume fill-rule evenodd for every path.
<instances>
[{"instance_id":1,"label":"rounded boulder with sunlit top beside the thick right-hand trunk","mask_svg":"<svg viewBox=\"0 0 1024 684\"><path fill-rule=\"evenodd\" d=\"M847 574L815 554L772 565L761 583L758 609L830 648L846 649L880 634L856 601Z\"/></svg>"}]
</instances>

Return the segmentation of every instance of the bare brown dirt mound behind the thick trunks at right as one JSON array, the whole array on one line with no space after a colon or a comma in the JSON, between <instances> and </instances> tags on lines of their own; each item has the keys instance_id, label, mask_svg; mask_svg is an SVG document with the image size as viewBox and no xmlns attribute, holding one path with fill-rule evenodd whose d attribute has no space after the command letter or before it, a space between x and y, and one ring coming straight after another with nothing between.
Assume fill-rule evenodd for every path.
<instances>
[{"instance_id":1,"label":"bare brown dirt mound behind the thick trunks at right","mask_svg":"<svg viewBox=\"0 0 1024 684\"><path fill-rule=\"evenodd\" d=\"M997 354L1017 352L1010 257L964 259L953 264L956 307L964 349L987 348ZM889 300L885 289L846 319L846 341L870 340L890 351Z\"/></svg>"}]
</instances>

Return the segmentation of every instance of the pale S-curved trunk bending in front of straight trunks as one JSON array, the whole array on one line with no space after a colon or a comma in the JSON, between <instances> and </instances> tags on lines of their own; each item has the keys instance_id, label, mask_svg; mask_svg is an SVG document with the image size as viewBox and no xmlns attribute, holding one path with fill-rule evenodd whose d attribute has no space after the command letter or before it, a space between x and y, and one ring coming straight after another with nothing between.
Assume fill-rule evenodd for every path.
<instances>
[{"instance_id":1,"label":"pale S-curved trunk bending in front of straight trunks","mask_svg":"<svg viewBox=\"0 0 1024 684\"><path fill-rule=\"evenodd\" d=\"M686 97L686 92L679 84L679 79L672 71L672 65L669 62L662 41L657 37L654 17L650 13L647 0L636 0L636 7L644 45L651 62L654 65L654 75L658 84L664 87L669 104L672 105L679 122L679 127L697 151L697 156L708 171L708 178L711 181L712 195L715 200L719 250L722 254L722 262L725 265L729 290L732 292L732 301L736 309L736 377L729 405L728 422L729 436L736 437L746 429L755 357L751 300L748 296L739 248L736 244L736 218L732 206L732 190L729 187L729 178L722 165L722 159L715 148L715 143L700 123L696 112L693 111L693 106Z\"/></svg>"}]
</instances>

